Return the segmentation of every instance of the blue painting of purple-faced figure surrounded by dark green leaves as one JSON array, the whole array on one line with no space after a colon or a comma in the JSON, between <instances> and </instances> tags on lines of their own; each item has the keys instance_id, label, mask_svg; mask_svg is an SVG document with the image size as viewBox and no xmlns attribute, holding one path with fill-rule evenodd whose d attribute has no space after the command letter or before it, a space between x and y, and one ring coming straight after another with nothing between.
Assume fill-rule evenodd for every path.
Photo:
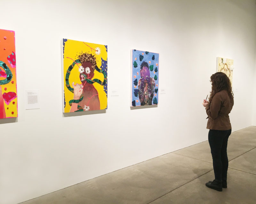
<instances>
[{"instance_id":1,"label":"blue painting of purple-faced figure surrounded by dark green leaves","mask_svg":"<svg viewBox=\"0 0 256 204\"><path fill-rule=\"evenodd\" d=\"M131 106L158 104L159 54L132 50Z\"/></svg>"}]
</instances>

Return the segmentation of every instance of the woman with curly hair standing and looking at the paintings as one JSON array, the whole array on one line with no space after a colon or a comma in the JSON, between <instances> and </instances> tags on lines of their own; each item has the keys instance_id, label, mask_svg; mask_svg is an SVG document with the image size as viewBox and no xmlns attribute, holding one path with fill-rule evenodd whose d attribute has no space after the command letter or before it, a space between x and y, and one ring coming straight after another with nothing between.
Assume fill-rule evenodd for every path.
<instances>
[{"instance_id":1,"label":"woman with curly hair standing and looking at the paintings","mask_svg":"<svg viewBox=\"0 0 256 204\"><path fill-rule=\"evenodd\" d=\"M234 105L231 83L225 73L217 72L211 76L212 92L209 102L204 100L203 106L208 115L208 141L212 153L215 179L205 185L217 191L227 188L228 137L231 134L231 124L228 114Z\"/></svg>"}]
</instances>

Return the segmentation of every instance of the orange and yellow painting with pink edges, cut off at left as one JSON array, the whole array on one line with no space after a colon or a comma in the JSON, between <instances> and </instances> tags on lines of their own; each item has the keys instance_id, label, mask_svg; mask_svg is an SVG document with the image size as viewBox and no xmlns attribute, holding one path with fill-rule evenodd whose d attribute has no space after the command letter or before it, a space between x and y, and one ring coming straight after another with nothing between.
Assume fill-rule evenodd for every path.
<instances>
[{"instance_id":1,"label":"orange and yellow painting with pink edges, cut off at left","mask_svg":"<svg viewBox=\"0 0 256 204\"><path fill-rule=\"evenodd\" d=\"M0 29L0 119L18 117L15 32Z\"/></svg>"}]
</instances>

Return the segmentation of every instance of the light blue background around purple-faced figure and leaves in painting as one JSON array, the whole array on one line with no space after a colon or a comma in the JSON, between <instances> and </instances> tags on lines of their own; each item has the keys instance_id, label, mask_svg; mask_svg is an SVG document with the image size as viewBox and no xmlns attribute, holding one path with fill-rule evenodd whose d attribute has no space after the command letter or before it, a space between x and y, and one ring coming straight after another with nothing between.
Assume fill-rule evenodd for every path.
<instances>
[{"instance_id":1,"label":"light blue background around purple-faced figure and leaves in painting","mask_svg":"<svg viewBox=\"0 0 256 204\"><path fill-rule=\"evenodd\" d=\"M142 55L142 53L144 53L144 55ZM142 61L140 61L140 55L142 55L144 58L142 59ZM152 56L155 55L155 60L152 60ZM137 60L135 60L135 58L137 57ZM138 67L134 68L133 66L133 63L134 61L137 62L138 64ZM140 106L140 99L139 99L139 95L138 97L135 97L134 96L134 89L138 89L138 85L136 88L134 88L134 84L133 84L133 81L135 79L138 80L138 83L139 83L139 80L140 80L140 65L142 62L147 62L148 63L148 66L150 65L154 65L154 69L153 71L150 71L150 77L154 78L155 75L157 76L157 80L155 80L155 83L158 84L158 73L159 73L159 54L158 53L153 53L153 52L149 52L148 55L146 55L146 52L145 51L140 51L140 50L132 50L132 101L135 100L135 105L136 106ZM151 61L151 63L149 63L149 61ZM158 64L158 66L156 66L156 64ZM155 68L157 67L157 72L154 74L154 71L155 71ZM139 75L137 75L137 72L139 72ZM133 76L136 76L136 78L134 78ZM158 86L156 86L155 84L155 89L157 88L158 89ZM157 99L157 103L158 103L158 93L159 93L159 89L156 93L156 96L154 94L154 97L153 99L156 97ZM152 99L152 105L155 105L153 104L153 99ZM138 100L138 102L136 102L136 100ZM132 106L132 104L131 104Z\"/></svg>"}]
</instances>

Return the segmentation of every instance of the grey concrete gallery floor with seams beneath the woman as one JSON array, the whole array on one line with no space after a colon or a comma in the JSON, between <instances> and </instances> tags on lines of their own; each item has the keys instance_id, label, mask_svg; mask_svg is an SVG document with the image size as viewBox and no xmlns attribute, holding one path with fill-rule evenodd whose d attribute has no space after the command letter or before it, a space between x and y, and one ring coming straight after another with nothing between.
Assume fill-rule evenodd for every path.
<instances>
[{"instance_id":1,"label":"grey concrete gallery floor with seams beneath the woman","mask_svg":"<svg viewBox=\"0 0 256 204\"><path fill-rule=\"evenodd\" d=\"M255 126L230 135L228 159L228 188L222 192L205 186L214 177L206 141L23 204L255 204Z\"/></svg>"}]
</instances>

